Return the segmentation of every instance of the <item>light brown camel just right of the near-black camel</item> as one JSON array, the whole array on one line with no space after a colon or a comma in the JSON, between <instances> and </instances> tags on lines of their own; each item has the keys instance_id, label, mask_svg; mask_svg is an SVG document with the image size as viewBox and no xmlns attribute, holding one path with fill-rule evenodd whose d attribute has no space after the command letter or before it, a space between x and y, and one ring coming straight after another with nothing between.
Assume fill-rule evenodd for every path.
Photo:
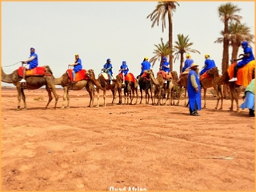
<instances>
[{"instance_id":1,"label":"light brown camel just right of the near-black camel","mask_svg":"<svg viewBox=\"0 0 256 192\"><path fill-rule=\"evenodd\" d=\"M162 103L162 105L166 105L167 101L169 100L169 106L172 104L172 90L174 87L174 80L170 79L170 82L165 83L165 79L163 78L162 74L159 73L157 78L154 78L154 73L151 70L150 78L154 85L156 86L155 95L158 95L158 102L156 105L161 104L161 99L164 97L164 94L167 94L166 102ZM155 97L154 97L155 100ZM154 101L155 103L155 101Z\"/></svg>"}]
</instances>

